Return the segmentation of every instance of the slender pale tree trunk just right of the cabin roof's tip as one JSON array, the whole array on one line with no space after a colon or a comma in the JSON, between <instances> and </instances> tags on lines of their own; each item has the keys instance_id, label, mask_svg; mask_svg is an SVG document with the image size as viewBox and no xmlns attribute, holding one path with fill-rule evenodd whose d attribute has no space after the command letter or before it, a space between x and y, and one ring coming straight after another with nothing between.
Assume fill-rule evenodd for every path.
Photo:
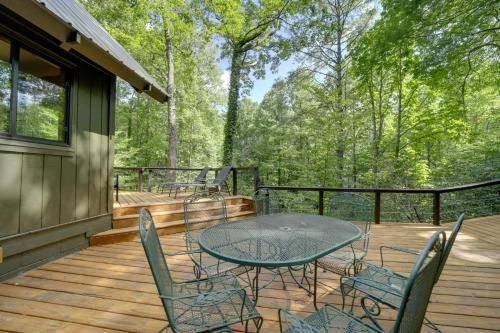
<instances>
[{"instance_id":1,"label":"slender pale tree trunk just right of the cabin roof's tip","mask_svg":"<svg viewBox=\"0 0 500 333\"><path fill-rule=\"evenodd\" d=\"M175 110L175 82L174 82L174 48L172 35L165 29L165 56L167 60L167 118L168 118L168 152L169 168L177 167L177 120ZM170 170L168 181L175 182L176 171Z\"/></svg>"}]
</instances>

